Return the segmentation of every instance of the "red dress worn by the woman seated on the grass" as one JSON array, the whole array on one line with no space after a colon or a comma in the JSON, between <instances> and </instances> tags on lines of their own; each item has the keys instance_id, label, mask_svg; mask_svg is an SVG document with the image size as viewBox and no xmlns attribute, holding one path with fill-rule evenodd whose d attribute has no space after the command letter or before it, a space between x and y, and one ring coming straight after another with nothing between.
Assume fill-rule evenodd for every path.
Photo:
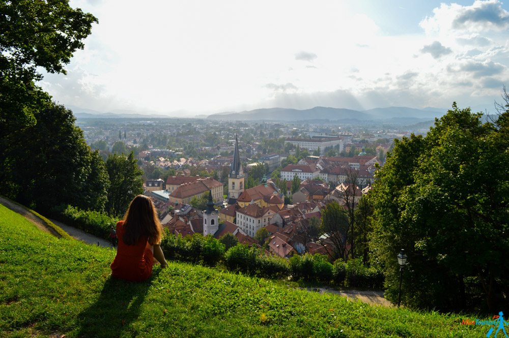
<instances>
[{"instance_id":1,"label":"red dress worn by the woman seated on the grass","mask_svg":"<svg viewBox=\"0 0 509 338\"><path fill-rule=\"evenodd\" d=\"M117 256L111 263L111 275L127 281L142 282L152 274L154 255L148 237L142 236L134 245L124 243L124 221L117 223L119 245Z\"/></svg>"}]
</instances>

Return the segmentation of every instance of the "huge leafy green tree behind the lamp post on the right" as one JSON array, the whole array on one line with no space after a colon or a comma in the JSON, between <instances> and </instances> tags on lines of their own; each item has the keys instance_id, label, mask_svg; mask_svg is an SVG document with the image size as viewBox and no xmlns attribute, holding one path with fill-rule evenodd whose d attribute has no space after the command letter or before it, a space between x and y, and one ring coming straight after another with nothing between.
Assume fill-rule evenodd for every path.
<instances>
[{"instance_id":1,"label":"huge leafy green tree behind the lamp post on the right","mask_svg":"<svg viewBox=\"0 0 509 338\"><path fill-rule=\"evenodd\" d=\"M482 114L455 103L425 138L394 141L370 192L371 260L384 267L389 299L398 295L394 256L403 248L407 305L492 312L507 303L509 177L501 164L509 163L509 138L497 124L508 115L483 124Z\"/></svg>"}]
</instances>

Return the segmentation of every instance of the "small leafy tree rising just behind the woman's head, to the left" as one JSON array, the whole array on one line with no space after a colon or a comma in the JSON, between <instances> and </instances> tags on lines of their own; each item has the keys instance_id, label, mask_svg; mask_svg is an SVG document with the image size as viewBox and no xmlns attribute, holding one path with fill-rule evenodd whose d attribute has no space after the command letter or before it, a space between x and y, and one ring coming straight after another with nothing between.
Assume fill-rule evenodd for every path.
<instances>
[{"instance_id":1,"label":"small leafy tree rising just behind the woman's head, to the left","mask_svg":"<svg viewBox=\"0 0 509 338\"><path fill-rule=\"evenodd\" d=\"M108 156L106 170L110 180L106 210L111 216L118 217L127 210L136 195L143 193L143 172L138 168L132 151L128 156Z\"/></svg>"}]
</instances>

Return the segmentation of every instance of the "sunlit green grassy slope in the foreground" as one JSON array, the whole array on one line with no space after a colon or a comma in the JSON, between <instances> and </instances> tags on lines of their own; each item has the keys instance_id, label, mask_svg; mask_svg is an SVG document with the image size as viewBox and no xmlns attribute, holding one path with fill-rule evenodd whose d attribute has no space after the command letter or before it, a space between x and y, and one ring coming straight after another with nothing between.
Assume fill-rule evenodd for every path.
<instances>
[{"instance_id":1,"label":"sunlit green grassy slope in the foreground","mask_svg":"<svg viewBox=\"0 0 509 338\"><path fill-rule=\"evenodd\" d=\"M0 205L0 336L465 336L459 317L372 307L202 266L145 283L109 278L115 256L56 239Z\"/></svg>"}]
</instances>

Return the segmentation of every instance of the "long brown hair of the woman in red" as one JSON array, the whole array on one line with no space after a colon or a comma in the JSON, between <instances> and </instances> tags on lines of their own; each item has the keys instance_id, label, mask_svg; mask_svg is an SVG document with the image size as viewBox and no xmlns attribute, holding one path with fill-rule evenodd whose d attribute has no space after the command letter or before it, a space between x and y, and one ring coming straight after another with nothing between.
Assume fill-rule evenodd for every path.
<instances>
[{"instance_id":1,"label":"long brown hair of the woman in red","mask_svg":"<svg viewBox=\"0 0 509 338\"><path fill-rule=\"evenodd\" d=\"M162 238L162 226L152 200L144 195L134 197L124 216L124 243L135 244L140 237L149 237L151 245Z\"/></svg>"}]
</instances>

